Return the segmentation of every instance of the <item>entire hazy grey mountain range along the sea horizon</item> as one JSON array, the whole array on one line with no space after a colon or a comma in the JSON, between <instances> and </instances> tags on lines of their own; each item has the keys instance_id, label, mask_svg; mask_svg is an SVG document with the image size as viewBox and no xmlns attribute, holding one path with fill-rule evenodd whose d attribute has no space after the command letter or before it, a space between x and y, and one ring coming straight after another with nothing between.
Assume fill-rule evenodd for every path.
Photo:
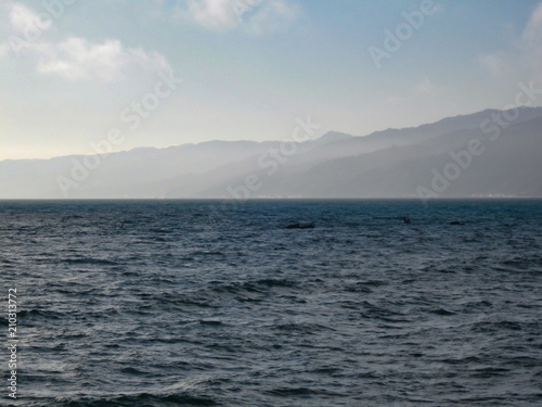
<instances>
[{"instance_id":1,"label":"entire hazy grey mountain range along the sea horizon","mask_svg":"<svg viewBox=\"0 0 542 407\"><path fill-rule=\"evenodd\" d=\"M431 190L436 171L451 154L483 141L442 198L542 196L542 107L520 107L514 122L495 131L483 112L448 117L416 128L357 137L330 131L296 144L295 154L273 155L281 141L207 141L167 149L140 148L111 154L75 182L68 198L415 198ZM508 116L512 115L509 112ZM480 126L488 124L486 131ZM59 178L72 179L83 156L0 162L0 199L66 198ZM453 162L452 162L453 163ZM448 165L448 167L447 167ZM247 188L247 177L258 179ZM243 193L241 193L241 191ZM248 193L247 193L248 191Z\"/></svg>"}]
</instances>

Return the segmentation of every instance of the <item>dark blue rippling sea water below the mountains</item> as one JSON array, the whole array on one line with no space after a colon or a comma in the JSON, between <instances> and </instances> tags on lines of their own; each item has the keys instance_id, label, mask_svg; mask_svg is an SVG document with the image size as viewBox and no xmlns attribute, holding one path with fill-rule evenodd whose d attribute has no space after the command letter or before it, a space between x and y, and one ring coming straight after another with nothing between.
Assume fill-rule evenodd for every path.
<instances>
[{"instance_id":1,"label":"dark blue rippling sea water below the mountains","mask_svg":"<svg viewBox=\"0 0 542 407\"><path fill-rule=\"evenodd\" d=\"M542 201L209 205L0 202L16 405L542 405Z\"/></svg>"}]
</instances>

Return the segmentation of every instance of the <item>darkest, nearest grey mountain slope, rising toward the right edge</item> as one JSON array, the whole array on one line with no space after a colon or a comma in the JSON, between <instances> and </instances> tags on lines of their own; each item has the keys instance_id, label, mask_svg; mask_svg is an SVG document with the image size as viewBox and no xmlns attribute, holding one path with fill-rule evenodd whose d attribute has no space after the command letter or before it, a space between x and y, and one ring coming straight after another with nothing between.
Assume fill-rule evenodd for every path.
<instances>
[{"instance_id":1,"label":"darkest, nearest grey mountain slope, rising toward the right edge","mask_svg":"<svg viewBox=\"0 0 542 407\"><path fill-rule=\"evenodd\" d=\"M393 147L357 157L331 160L304 173L287 167L274 176L257 174L262 187L250 196L297 198L413 198L422 186L431 188L433 169L442 174L454 163L450 152L466 149L469 140L482 140L483 153L461 169L457 179L439 196L542 196L542 118L519 123L491 141L479 129L452 132L406 147ZM244 177L206 192L228 196L227 186L242 186Z\"/></svg>"}]
</instances>

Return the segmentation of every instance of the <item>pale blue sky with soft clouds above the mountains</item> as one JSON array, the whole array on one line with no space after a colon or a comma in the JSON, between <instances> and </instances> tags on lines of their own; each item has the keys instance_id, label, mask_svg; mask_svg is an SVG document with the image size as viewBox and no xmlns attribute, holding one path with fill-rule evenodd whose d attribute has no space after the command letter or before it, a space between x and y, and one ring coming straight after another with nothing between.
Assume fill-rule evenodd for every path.
<instances>
[{"instance_id":1,"label":"pale blue sky with soft clouds above the mountains","mask_svg":"<svg viewBox=\"0 0 542 407\"><path fill-rule=\"evenodd\" d=\"M364 136L530 82L542 1L0 0L0 160Z\"/></svg>"}]
</instances>

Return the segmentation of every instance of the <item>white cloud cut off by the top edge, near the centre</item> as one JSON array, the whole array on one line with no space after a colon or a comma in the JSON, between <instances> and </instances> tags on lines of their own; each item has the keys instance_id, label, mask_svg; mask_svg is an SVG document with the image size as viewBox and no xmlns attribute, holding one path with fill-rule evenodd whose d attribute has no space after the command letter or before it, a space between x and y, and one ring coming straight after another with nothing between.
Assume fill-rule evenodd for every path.
<instances>
[{"instance_id":1,"label":"white cloud cut off by the top edge, near the centre","mask_svg":"<svg viewBox=\"0 0 542 407\"><path fill-rule=\"evenodd\" d=\"M289 26L298 17L299 8L286 0L188 0L177 15L215 31L244 26L263 34Z\"/></svg>"}]
</instances>

